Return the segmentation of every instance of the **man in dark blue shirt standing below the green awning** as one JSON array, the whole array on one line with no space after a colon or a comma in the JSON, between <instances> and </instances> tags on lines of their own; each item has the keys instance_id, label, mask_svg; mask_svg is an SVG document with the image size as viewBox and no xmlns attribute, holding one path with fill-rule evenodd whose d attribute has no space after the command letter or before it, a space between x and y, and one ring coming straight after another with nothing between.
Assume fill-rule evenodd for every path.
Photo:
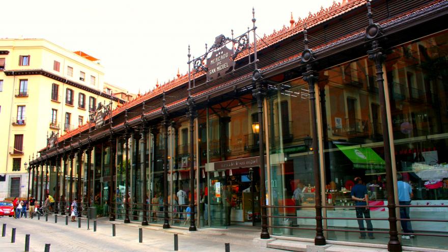
<instances>
[{"instance_id":1,"label":"man in dark blue shirt standing below the green awning","mask_svg":"<svg viewBox=\"0 0 448 252\"><path fill-rule=\"evenodd\" d=\"M367 187L362 184L362 180L359 177L355 178L357 183L352 187L352 200L356 202L356 206L367 206L369 198L367 195ZM366 218L367 231L373 231L372 221L370 220L370 209L368 207L356 207L356 218L358 218L358 226L360 231L365 231L364 221L360 218ZM375 239L373 233L368 233L370 239ZM366 239L366 233L361 232L359 239Z\"/></svg>"}]
</instances>

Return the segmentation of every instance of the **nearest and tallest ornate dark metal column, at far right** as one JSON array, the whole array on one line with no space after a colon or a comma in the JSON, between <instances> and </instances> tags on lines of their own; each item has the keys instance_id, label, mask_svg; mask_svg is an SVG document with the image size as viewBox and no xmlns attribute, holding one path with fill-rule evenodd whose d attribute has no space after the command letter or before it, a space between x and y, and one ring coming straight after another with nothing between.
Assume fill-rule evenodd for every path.
<instances>
[{"instance_id":1,"label":"nearest and tallest ornate dark metal column, at far right","mask_svg":"<svg viewBox=\"0 0 448 252\"><path fill-rule=\"evenodd\" d=\"M384 96L384 79L383 79L383 62L386 55L383 53L382 48L379 46L378 39L382 36L381 26L374 23L372 20L372 12L370 9L370 2L367 2L367 17L369 18L369 26L366 29L366 38L372 41L372 49L367 51L369 55L369 60L375 63L376 68L376 81L378 84L378 96L381 111L381 129L383 131L383 142L384 142L384 161L386 170L386 188L389 192L387 194L387 208L389 210L389 242L387 243L387 249L389 251L397 252L402 251L402 245L398 239L397 230L397 216L395 212L395 195L394 195L394 181L390 154L390 143L389 143L389 129L387 127L387 111L386 111L386 100Z\"/></svg>"}]
</instances>

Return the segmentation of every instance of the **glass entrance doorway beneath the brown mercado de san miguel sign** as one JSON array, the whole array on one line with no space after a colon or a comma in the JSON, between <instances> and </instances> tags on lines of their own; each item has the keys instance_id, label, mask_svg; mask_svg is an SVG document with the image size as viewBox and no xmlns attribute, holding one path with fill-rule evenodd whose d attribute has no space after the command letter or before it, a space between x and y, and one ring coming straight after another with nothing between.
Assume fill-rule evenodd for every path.
<instances>
[{"instance_id":1,"label":"glass entrance doorway beneath the brown mercado de san miguel sign","mask_svg":"<svg viewBox=\"0 0 448 252\"><path fill-rule=\"evenodd\" d=\"M260 211L259 167L209 172L208 214L213 228L258 226Z\"/></svg>"}]
</instances>

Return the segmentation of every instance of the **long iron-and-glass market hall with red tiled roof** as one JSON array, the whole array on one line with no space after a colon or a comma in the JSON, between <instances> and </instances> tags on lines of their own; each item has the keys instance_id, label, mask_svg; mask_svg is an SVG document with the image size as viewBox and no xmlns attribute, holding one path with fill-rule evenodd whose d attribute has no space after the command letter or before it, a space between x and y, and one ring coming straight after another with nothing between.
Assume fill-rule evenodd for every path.
<instances>
[{"instance_id":1,"label":"long iron-and-glass market hall with red tiled roof","mask_svg":"<svg viewBox=\"0 0 448 252\"><path fill-rule=\"evenodd\" d=\"M448 1L334 2L261 38L254 12L247 33L217 36L199 58L188 48L188 74L97 109L95 123L40 150L30 190L42 192L49 169L63 214L78 197L110 220L163 228L445 248L447 11ZM367 207L351 197L357 177Z\"/></svg>"}]
</instances>

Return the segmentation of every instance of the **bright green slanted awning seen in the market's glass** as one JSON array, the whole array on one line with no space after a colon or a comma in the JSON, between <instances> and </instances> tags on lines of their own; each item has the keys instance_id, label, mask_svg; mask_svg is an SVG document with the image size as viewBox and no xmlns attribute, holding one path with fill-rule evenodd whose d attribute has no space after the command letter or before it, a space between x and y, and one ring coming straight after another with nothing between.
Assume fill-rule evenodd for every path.
<instances>
[{"instance_id":1,"label":"bright green slanted awning seen in the market's glass","mask_svg":"<svg viewBox=\"0 0 448 252\"><path fill-rule=\"evenodd\" d=\"M372 148L336 145L359 169L384 169L384 160Z\"/></svg>"}]
</instances>

